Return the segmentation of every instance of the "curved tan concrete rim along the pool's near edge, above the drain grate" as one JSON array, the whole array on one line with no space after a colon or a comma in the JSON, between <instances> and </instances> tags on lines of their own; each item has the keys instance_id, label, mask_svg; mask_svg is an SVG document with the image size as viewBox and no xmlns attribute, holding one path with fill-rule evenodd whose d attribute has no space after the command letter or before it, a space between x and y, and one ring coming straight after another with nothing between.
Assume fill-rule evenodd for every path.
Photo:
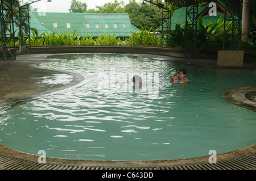
<instances>
[{"instance_id":1,"label":"curved tan concrete rim along the pool's near edge, above the drain grate","mask_svg":"<svg viewBox=\"0 0 256 181\"><path fill-rule=\"evenodd\" d=\"M66 165L73 167L89 167L89 168L122 168L122 169L159 169L167 167L179 167L179 166L192 166L192 165L216 165L217 163L225 163L231 160L240 159L243 157L253 156L256 157L256 144L246 146L234 151L229 151L226 153L220 153L216 155L216 164L209 163L210 155L204 157L196 158L183 158L183 159L164 159L164 160L153 160L153 161L94 161L94 160L80 160L80 159L61 159L61 158L51 158L46 157L45 163L39 163L40 155L32 155L28 153L23 153L17 150L6 147L0 144L0 156L5 156L8 158L19 159L22 161L28 161L34 164L39 164L43 166L46 165ZM229 163L230 164L230 163ZM245 163L246 165L251 165L251 163ZM0 169L5 167L5 164L1 163L0 159ZM217 165L216 165L217 166ZM241 166L240 166L241 167ZM241 167L242 168L242 167ZM252 164L250 169L256 168L256 162ZM204 169L203 169L204 170ZM207 169L206 169L207 170Z\"/></svg>"}]
</instances>

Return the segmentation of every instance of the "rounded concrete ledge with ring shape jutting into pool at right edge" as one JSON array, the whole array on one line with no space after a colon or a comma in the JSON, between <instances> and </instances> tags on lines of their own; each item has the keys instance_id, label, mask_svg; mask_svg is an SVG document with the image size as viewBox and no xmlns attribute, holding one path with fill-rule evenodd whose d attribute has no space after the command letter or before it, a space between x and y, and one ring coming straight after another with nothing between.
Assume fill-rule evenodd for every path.
<instances>
[{"instance_id":1,"label":"rounded concrete ledge with ring shape jutting into pool at right edge","mask_svg":"<svg viewBox=\"0 0 256 181\"><path fill-rule=\"evenodd\" d=\"M247 94L255 91L256 91L256 86L240 87L240 88L225 91L222 94L222 98L224 98L229 103L232 103L237 106L241 106L243 108L247 108L251 111L256 112L256 102L246 97Z\"/></svg>"}]
</instances>

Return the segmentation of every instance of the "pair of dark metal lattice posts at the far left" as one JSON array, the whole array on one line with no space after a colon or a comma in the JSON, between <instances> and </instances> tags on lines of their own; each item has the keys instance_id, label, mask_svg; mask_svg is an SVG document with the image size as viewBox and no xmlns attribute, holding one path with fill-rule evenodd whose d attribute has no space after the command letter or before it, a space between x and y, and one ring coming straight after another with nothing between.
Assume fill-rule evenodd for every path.
<instances>
[{"instance_id":1,"label":"pair of dark metal lattice posts at the far left","mask_svg":"<svg viewBox=\"0 0 256 181\"><path fill-rule=\"evenodd\" d=\"M41 0L28 1L27 4L24 4L22 1L22 5L20 5L19 0L0 0L1 40L4 59L16 59L14 9L17 7L19 9L19 18L16 18L16 20L19 21L20 47L22 48L22 54L31 53L28 5Z\"/></svg>"}]
</instances>

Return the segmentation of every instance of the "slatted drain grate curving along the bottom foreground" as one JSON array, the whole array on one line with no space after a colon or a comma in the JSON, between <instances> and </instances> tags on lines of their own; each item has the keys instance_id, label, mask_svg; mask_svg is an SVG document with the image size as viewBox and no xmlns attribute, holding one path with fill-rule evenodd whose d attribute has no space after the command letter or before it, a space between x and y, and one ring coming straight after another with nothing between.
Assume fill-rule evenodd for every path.
<instances>
[{"instance_id":1,"label":"slatted drain grate curving along the bottom foreground","mask_svg":"<svg viewBox=\"0 0 256 181\"><path fill-rule=\"evenodd\" d=\"M0 170L250 170L256 168L256 154L221 161L217 163L205 163L201 165L152 167L152 168L108 168L108 167L85 167L70 165L42 164L10 158L0 155Z\"/></svg>"}]
</instances>

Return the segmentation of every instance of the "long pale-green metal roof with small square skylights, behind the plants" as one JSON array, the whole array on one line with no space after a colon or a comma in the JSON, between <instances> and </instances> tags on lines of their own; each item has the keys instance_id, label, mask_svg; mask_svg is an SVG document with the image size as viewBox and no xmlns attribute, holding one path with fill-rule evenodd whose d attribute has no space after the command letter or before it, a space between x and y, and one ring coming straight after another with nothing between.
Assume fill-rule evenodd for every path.
<instances>
[{"instance_id":1,"label":"long pale-green metal roof with small square skylights, behind the plants","mask_svg":"<svg viewBox=\"0 0 256 181\"><path fill-rule=\"evenodd\" d=\"M92 35L101 36L104 31L106 35L117 37L130 36L131 32L139 31L134 27L128 14L88 14L88 13L64 13L46 12L41 15L39 12L30 12L40 23L50 30L60 33L74 32L79 36Z\"/></svg>"}]
</instances>

